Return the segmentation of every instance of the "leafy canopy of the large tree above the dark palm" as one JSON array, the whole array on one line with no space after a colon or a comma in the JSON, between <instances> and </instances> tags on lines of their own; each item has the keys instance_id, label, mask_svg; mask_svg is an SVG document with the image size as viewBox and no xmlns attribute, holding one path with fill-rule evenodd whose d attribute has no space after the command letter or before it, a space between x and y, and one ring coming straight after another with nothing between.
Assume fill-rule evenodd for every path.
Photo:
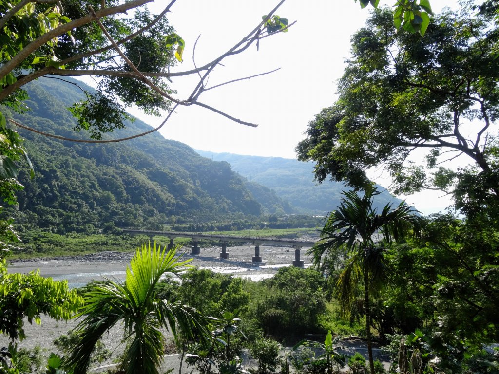
<instances>
[{"instance_id":1,"label":"leafy canopy of the large tree above the dark palm","mask_svg":"<svg viewBox=\"0 0 499 374\"><path fill-rule=\"evenodd\" d=\"M362 187L367 169L384 166L396 193L442 189L465 213L497 207L499 29L495 12L471 11L434 17L423 38L396 32L389 9L373 12L352 36L338 100L296 147L319 182ZM411 159L418 149L426 170ZM444 166L457 156L463 166Z\"/></svg>"}]
</instances>

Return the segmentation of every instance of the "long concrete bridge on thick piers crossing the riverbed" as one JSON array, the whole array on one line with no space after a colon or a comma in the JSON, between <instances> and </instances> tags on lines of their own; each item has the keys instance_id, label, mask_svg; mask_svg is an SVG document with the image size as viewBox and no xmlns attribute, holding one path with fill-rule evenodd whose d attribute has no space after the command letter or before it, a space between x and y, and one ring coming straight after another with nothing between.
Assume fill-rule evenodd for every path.
<instances>
[{"instance_id":1,"label":"long concrete bridge on thick piers crossing the riverbed","mask_svg":"<svg viewBox=\"0 0 499 374\"><path fill-rule=\"evenodd\" d=\"M220 258L229 258L229 252L227 251L227 243L229 241L245 241L254 244L254 256L251 256L251 261L258 263L263 261L262 256L260 256L260 245L270 244L270 245L281 245L289 246L294 248L294 266L303 266L303 260L300 259L300 249L301 248L311 248L314 246L315 241L313 240L298 240L298 239L287 239L287 238L269 238L269 237L259 237L259 236L236 236L236 235L217 235L217 234L204 234L201 232L181 232L181 231L152 231L152 230L132 230L123 229L123 232L132 235L147 235L151 238L153 236L166 236L170 239L168 244L168 249L173 248L174 239L177 237L190 238L192 240L191 254L200 254L200 249L198 245L199 240L216 240L222 244L222 252L220 252Z\"/></svg>"}]
</instances>

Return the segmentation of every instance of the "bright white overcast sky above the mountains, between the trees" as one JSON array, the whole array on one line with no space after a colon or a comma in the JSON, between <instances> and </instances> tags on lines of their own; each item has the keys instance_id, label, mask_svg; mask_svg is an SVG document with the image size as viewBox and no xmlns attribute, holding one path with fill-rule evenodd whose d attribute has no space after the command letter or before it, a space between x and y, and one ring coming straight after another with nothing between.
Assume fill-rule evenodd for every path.
<instances>
[{"instance_id":1,"label":"bright white overcast sky above the mountains, between the trees","mask_svg":"<svg viewBox=\"0 0 499 374\"><path fill-rule=\"evenodd\" d=\"M394 2L382 0L381 4ZM166 3L157 0L152 9L159 13ZM171 71L194 68L193 47L198 37L194 59L201 66L240 41L277 3L277 0L178 0L168 19L185 40L186 48L184 62ZM443 6L456 8L456 2L449 0L431 0L431 4L435 12ZM308 122L337 98L336 81L349 57L350 36L364 25L369 10L361 9L354 0L286 0L276 14L296 23L289 32L262 39L258 50L251 46L225 59L224 66L210 76L208 86L280 69L207 91L199 100L258 127L241 125L204 108L190 106L178 109L160 130L165 138L204 151L296 157L294 148L305 138ZM172 87L178 91L178 98L185 99L197 82L197 76L177 77ZM130 112L151 126L162 121L135 108ZM382 186L390 184L381 171L371 171L371 175ZM450 205L450 199L441 195L427 191L401 197L429 214Z\"/></svg>"}]
</instances>

